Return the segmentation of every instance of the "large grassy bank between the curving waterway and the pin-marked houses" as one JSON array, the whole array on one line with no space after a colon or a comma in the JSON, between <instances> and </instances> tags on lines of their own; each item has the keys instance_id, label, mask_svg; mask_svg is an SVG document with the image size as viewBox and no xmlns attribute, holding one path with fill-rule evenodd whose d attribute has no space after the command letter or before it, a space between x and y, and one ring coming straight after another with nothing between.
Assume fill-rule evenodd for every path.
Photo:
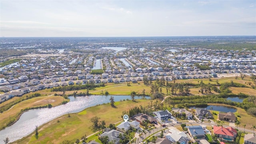
<instances>
[{"instance_id":1,"label":"large grassy bank between the curving waterway and the pin-marked houses","mask_svg":"<svg viewBox=\"0 0 256 144\"><path fill-rule=\"evenodd\" d=\"M120 102L117 108L112 108L110 104L104 104L87 108L86 112L82 111L70 114L70 118L68 118L67 115L60 116L38 128L38 140L36 140L34 134L31 134L16 143L50 144L51 142L60 143L63 140L71 140L74 142L77 138L80 139L84 134L88 136L94 133L92 131L92 123L90 122L93 116L100 117L100 121L105 120L106 126L108 126L110 123L116 123L122 120L121 115L124 110L127 111L134 106L147 106L149 102L150 100L136 100L136 102L128 100Z\"/></svg>"}]
</instances>

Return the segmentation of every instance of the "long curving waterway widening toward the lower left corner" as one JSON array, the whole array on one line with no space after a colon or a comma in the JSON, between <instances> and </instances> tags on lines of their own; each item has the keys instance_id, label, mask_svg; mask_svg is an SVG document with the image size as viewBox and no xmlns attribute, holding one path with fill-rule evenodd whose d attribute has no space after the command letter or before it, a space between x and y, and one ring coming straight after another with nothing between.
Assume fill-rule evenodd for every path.
<instances>
[{"instance_id":1,"label":"long curving waterway widening toward the lower left corner","mask_svg":"<svg viewBox=\"0 0 256 144\"><path fill-rule=\"evenodd\" d=\"M114 100L126 100L131 99L131 96L113 96ZM69 97L70 102L64 105L56 106L53 108L41 108L36 110L30 110L24 112L20 119L12 126L0 131L0 144L3 144L4 138L8 137L10 142L19 140L24 136L32 133L36 126L41 126L54 118L62 116L68 113L80 112L85 108L96 106L98 104L104 104L110 102L110 96L84 96L84 97ZM135 99L142 97L136 96Z\"/></svg>"}]
</instances>

